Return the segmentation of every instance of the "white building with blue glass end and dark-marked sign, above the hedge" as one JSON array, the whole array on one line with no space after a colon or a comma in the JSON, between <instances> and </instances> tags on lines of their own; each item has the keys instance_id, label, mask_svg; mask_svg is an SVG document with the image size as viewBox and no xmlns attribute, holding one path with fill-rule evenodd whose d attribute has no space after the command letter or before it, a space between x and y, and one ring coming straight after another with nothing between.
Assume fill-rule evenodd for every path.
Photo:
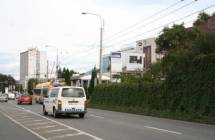
<instances>
[{"instance_id":1,"label":"white building with blue glass end and dark-marked sign, above the hedge","mask_svg":"<svg viewBox=\"0 0 215 140\"><path fill-rule=\"evenodd\" d=\"M104 55L103 73L110 73L110 67L113 75L121 72L144 71L152 63L156 63L162 58L162 55L156 53L156 48L155 38L149 38L136 41L135 47L123 48L120 51Z\"/></svg>"}]
</instances>

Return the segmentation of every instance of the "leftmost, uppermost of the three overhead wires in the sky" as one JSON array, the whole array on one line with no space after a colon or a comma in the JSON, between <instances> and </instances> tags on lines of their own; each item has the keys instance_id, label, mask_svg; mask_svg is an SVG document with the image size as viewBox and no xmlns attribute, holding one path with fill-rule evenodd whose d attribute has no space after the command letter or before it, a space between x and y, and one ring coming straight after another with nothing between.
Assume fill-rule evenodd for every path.
<instances>
[{"instance_id":1,"label":"leftmost, uppermost of the three overhead wires in the sky","mask_svg":"<svg viewBox=\"0 0 215 140\"><path fill-rule=\"evenodd\" d=\"M131 29L133 29L135 26L138 26L138 25L141 24L142 22L145 22L148 18L156 17L158 14L161 14L161 13L163 13L163 12L169 10L170 8L177 6L178 4L180 4L180 3L183 2L183 1L184 1L184 0L179 0L179 1L177 1L177 2L175 2L175 3L173 3L173 4L171 4L171 5L168 6L167 8L164 8L164 9L162 9L162 10L160 10L160 11L157 11L156 13L154 13L154 14L148 16L147 18L144 18L144 19L142 19L142 20L136 22L135 24L126 27L126 28L123 29L123 30L121 30L121 31L119 31L119 32L117 32L117 33L114 33L114 34L111 35L110 37L107 37L107 38L108 38L107 40L109 40L109 39L111 39L111 38L114 38L114 37L116 37L116 36L119 36L120 33L123 33L123 32L125 32L126 30L131 30Z\"/></svg>"}]
</instances>

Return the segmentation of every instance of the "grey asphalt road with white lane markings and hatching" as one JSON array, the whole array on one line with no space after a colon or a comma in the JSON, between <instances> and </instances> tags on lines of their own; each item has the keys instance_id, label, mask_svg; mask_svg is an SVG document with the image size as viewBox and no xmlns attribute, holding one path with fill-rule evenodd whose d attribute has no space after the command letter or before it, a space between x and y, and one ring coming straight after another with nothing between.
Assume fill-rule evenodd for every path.
<instances>
[{"instance_id":1,"label":"grey asphalt road with white lane markings and hatching","mask_svg":"<svg viewBox=\"0 0 215 140\"><path fill-rule=\"evenodd\" d=\"M1 117L2 116L2 117ZM8 118L9 117L9 118ZM11 119L16 122L13 124ZM7 121L4 121L7 120ZM88 109L84 119L77 116L54 119L42 115L42 106L0 104L0 124L23 125L32 139L65 140L214 140L215 126L147 117L98 109ZM25 130L26 129L26 130ZM21 130L19 130L21 131ZM5 132L6 133L6 132ZM2 134L2 133L0 133ZM6 138L6 135L5 135ZM10 139L5 139L10 140Z\"/></svg>"}]
</instances>

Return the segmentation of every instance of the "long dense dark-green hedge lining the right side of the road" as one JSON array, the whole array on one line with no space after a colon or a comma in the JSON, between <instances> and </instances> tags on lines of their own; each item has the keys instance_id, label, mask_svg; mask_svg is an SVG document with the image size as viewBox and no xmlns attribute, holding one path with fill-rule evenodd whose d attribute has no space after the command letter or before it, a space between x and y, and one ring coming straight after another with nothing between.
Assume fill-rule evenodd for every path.
<instances>
[{"instance_id":1,"label":"long dense dark-green hedge lining the right side of the road","mask_svg":"<svg viewBox=\"0 0 215 140\"><path fill-rule=\"evenodd\" d=\"M215 123L215 54L198 55L165 81L96 86L90 106L158 117ZM181 68L181 69L180 69Z\"/></svg>"}]
</instances>

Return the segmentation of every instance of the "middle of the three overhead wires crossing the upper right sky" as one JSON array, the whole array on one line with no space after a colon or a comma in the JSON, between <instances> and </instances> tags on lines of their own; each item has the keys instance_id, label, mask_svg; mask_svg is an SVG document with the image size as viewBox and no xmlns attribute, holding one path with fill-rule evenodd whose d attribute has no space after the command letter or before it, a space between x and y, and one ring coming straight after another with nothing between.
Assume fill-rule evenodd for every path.
<instances>
[{"instance_id":1,"label":"middle of the three overhead wires crossing the upper right sky","mask_svg":"<svg viewBox=\"0 0 215 140\"><path fill-rule=\"evenodd\" d=\"M179 8L176 8L176 9L174 9L174 10L172 10L172 11L170 11L170 12L164 14L164 15L161 15L161 16L155 18L155 19L154 19L154 18L151 18L152 20L149 19L149 20L148 20L149 22L146 22L146 24L141 24L141 25L136 26L136 27L133 27L133 28L134 28L134 30L138 30L138 29L140 29L140 28L142 28L142 27L146 27L146 26L148 26L148 25L151 25L152 23L155 23L155 22L157 22L157 21L159 21L159 20L165 18L166 16L169 16L169 15L171 15L171 14L177 12L177 11L180 11L181 9L183 9L183 8L185 8L185 7L190 6L190 5L193 4L194 2L196 2L196 0L192 0L191 2L189 2L189 3L185 4L185 5L182 5L182 6L180 6ZM123 34L121 34L121 36L122 36L122 35L125 35L125 34L128 34L128 33L130 33L130 32L134 32L134 30L124 32ZM112 40L113 40L113 39L112 39Z\"/></svg>"}]
</instances>

